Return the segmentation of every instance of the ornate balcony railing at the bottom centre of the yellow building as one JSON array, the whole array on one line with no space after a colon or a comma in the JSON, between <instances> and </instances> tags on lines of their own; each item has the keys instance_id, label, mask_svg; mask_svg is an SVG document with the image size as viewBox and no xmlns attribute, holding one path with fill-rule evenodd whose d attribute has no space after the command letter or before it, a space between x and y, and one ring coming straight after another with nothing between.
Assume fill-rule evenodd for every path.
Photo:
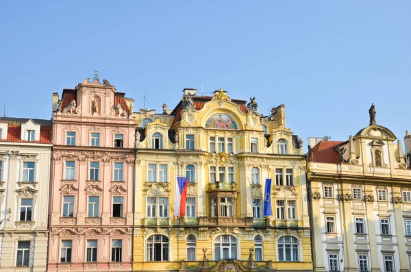
<instances>
[{"instance_id":1,"label":"ornate balcony railing at the bottom centre of the yellow building","mask_svg":"<svg viewBox=\"0 0 411 272\"><path fill-rule=\"evenodd\" d=\"M182 261L179 271L274 271L273 261L203 260Z\"/></svg>"}]
</instances>

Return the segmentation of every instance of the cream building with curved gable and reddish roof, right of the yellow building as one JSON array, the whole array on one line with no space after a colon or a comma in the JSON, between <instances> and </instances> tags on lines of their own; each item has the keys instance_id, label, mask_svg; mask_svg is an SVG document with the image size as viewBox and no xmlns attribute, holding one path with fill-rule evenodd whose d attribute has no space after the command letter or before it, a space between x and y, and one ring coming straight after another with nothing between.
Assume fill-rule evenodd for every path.
<instances>
[{"instance_id":1,"label":"cream building with curved gable and reddish roof, right of the yellow building","mask_svg":"<svg viewBox=\"0 0 411 272\"><path fill-rule=\"evenodd\" d=\"M309 153L314 271L410 271L411 170L396 138L374 121Z\"/></svg>"}]
</instances>

